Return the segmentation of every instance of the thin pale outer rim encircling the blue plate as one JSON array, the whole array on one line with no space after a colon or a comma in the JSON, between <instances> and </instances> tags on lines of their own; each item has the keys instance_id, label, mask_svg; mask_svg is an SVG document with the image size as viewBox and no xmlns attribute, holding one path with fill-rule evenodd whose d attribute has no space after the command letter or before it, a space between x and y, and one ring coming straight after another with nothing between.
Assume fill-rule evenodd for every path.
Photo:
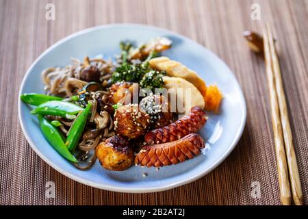
<instances>
[{"instance_id":1,"label":"thin pale outer rim encircling the blue plate","mask_svg":"<svg viewBox=\"0 0 308 219\"><path fill-rule=\"evenodd\" d=\"M77 31L73 34L70 34L64 38L62 38L61 40L55 42L55 44L51 45L51 47L49 47L48 49L46 49L42 54L40 54L36 60L31 64L31 66L28 68L27 73L25 73L25 76L23 77L23 81L21 82L21 88L19 90L18 93L18 97L21 96L21 90L23 90L23 87L25 86L25 79L27 78L27 76L29 75L31 69L34 67L34 65L36 65L36 63L47 53L49 53L49 51L53 50L55 47L57 47L59 44L62 44L63 42L66 42L68 40L70 40L71 38L75 38L76 36L79 36L81 34L85 34L87 32L90 31L94 31L97 29L108 29L108 28L112 28L112 27L142 27L142 28L151 28L151 29L156 29L158 31L164 31L168 34L172 34L174 36L177 36L179 38L183 38L185 40L190 41L191 43L197 44L200 47L203 47L203 49L209 51L209 49L205 48L203 45L199 44L198 42L182 36L181 34L177 34L173 31L170 31L168 29L164 29L161 27L155 27L155 26L151 26L151 25L143 25L143 24L137 24L137 23L114 23L114 24L109 24L109 25L99 25L99 26L94 26L94 27L90 27L87 29L83 29L81 31ZM103 190L109 190L109 191L113 191L113 192L125 192L125 193L148 193L148 192L160 192L160 191L164 191L164 190L170 190L172 188L176 188L180 185L185 185L187 183L190 183L192 181L196 181L197 179L200 179L201 177L207 175L207 173L211 172L212 170L214 170L214 168L216 168L217 166L219 166L224 159L226 159L229 154L233 151L233 149L235 148L235 146L238 144L238 141L240 140L242 133L244 131L244 127L245 127L245 123L246 123L246 101L244 99L244 94L242 93L242 89L240 87L240 84L238 83L238 79L236 79L235 75L233 74L233 72L231 71L231 69L229 68L229 66L227 66L227 64L225 64L220 57L218 57L215 53L209 51L209 53L211 53L211 55L214 55L216 57L216 59L220 62L221 65L223 65L225 68L227 68L232 77L234 77L235 82L237 83L237 86L240 90L240 96L241 96L241 100L242 100L242 104L244 106L243 108L243 114L242 114L242 118L240 121L240 129L238 130L238 133L236 133L235 138L233 139L233 142L231 143L231 146L229 147L229 149L227 151L225 151L225 153L220 157L220 159L218 159L216 162L214 162L214 164L211 164L211 166L209 166L209 168L207 168L206 170L203 170L202 172L200 172L198 175L194 175L192 177L189 177L187 179L183 179L182 181L176 182L176 183L171 183L169 185L161 185L161 186L157 186L157 187L151 187L151 188L123 188L123 187L119 187L119 186L109 186L109 185L102 185L99 183L93 183L92 181L88 181L85 179L82 179L81 177L76 177L75 175L71 174L70 172L66 172L64 170L62 170L62 168L56 166L55 164L53 164L52 162L49 162L49 159L47 159L47 157L44 157L44 155L42 153L40 153L40 151L36 148L34 142L31 141L31 138L28 136L27 131L25 130L25 126L23 124L23 120L21 118L21 100L18 100L18 118L19 118L19 122L21 124L21 129L23 130L23 133L25 135L25 138L27 139L27 141L29 142L31 148L36 152L36 154L44 160L44 162L46 162L47 164L49 164L49 166L51 166L52 168L54 168L55 170L57 170L58 172L62 173L62 175L73 179L74 181L77 181L79 183L82 183L84 185L89 185L92 186L94 188L99 188L99 189L103 189Z\"/></svg>"}]
</instances>

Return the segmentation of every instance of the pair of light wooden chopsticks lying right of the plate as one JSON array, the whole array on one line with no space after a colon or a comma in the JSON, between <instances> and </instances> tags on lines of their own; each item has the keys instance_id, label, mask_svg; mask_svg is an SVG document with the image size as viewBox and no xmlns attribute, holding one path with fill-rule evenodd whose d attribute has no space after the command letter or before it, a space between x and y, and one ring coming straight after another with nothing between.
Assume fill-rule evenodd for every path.
<instances>
[{"instance_id":1,"label":"pair of light wooden chopsticks lying right of the plate","mask_svg":"<svg viewBox=\"0 0 308 219\"><path fill-rule=\"evenodd\" d=\"M300 186L300 177L296 163L289 116L287 113L285 92L283 91L281 70L274 47L272 29L268 24L266 24L266 28L264 28L263 37L281 203L283 205L291 205L291 183L292 196L295 205L303 205L303 192Z\"/></svg>"}]
</instances>

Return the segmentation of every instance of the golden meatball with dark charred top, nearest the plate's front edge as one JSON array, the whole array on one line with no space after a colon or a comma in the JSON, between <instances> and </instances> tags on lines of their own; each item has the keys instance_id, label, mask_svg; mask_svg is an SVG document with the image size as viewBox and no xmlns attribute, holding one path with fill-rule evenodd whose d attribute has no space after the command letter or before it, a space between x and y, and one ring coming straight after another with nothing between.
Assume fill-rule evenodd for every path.
<instances>
[{"instance_id":1,"label":"golden meatball with dark charred top, nearest the plate's front edge","mask_svg":"<svg viewBox=\"0 0 308 219\"><path fill-rule=\"evenodd\" d=\"M101 142L95 153L103 168L122 171L133 164L133 149L122 136L112 136Z\"/></svg>"}]
</instances>

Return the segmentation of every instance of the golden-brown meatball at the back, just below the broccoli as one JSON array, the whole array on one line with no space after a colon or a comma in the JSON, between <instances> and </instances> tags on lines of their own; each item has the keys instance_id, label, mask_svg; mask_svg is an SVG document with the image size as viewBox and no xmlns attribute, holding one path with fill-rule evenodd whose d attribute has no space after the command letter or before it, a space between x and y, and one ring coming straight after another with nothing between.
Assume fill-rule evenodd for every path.
<instances>
[{"instance_id":1,"label":"golden-brown meatball at the back, just below the broccoli","mask_svg":"<svg viewBox=\"0 0 308 219\"><path fill-rule=\"evenodd\" d=\"M136 96L136 101L138 101L138 94L138 83L117 82L110 87L109 102L112 104L132 103L133 95Z\"/></svg>"}]
</instances>

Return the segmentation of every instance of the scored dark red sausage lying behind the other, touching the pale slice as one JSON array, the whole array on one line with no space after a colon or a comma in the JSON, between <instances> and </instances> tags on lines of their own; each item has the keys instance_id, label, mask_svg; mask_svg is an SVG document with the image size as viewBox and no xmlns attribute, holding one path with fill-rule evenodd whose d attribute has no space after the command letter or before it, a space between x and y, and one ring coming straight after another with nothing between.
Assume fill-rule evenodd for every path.
<instances>
[{"instance_id":1,"label":"scored dark red sausage lying behind the other, touching the pale slice","mask_svg":"<svg viewBox=\"0 0 308 219\"><path fill-rule=\"evenodd\" d=\"M183 136L189 133L196 133L205 125L205 122L205 112L203 112L200 107L192 107L188 116L183 116L174 123L146 133L144 142L147 144L172 142L183 138Z\"/></svg>"}]
</instances>

